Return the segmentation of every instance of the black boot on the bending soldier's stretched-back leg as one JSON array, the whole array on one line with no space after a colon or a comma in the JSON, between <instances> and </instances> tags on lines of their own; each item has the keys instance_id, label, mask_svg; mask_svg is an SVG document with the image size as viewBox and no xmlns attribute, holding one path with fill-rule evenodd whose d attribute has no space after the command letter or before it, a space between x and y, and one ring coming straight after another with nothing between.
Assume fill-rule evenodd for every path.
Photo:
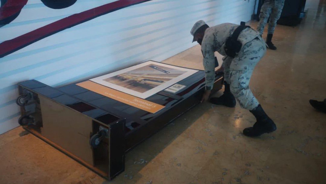
<instances>
[{"instance_id":1,"label":"black boot on the bending soldier's stretched-back leg","mask_svg":"<svg viewBox=\"0 0 326 184\"><path fill-rule=\"evenodd\" d=\"M250 110L250 112L256 117L257 122L253 127L244 128L243 133L245 136L256 137L276 130L275 123L267 116L260 104L255 109Z\"/></svg>"}]
</instances>

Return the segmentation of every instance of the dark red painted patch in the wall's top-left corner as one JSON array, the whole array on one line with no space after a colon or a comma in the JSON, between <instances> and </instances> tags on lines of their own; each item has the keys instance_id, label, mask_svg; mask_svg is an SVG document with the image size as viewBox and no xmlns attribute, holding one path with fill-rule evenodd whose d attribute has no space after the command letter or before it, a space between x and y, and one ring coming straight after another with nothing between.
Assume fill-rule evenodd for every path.
<instances>
[{"instance_id":1,"label":"dark red painted patch in the wall's top-left corner","mask_svg":"<svg viewBox=\"0 0 326 184\"><path fill-rule=\"evenodd\" d=\"M19 13L26 3L27 0L8 0L0 8L0 21Z\"/></svg>"}]
</instances>

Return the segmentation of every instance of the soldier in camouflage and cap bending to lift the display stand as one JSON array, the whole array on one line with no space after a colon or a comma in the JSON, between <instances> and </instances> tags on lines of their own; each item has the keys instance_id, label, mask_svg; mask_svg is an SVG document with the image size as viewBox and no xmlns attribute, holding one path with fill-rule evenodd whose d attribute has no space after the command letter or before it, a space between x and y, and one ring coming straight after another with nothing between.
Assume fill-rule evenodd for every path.
<instances>
[{"instance_id":1,"label":"soldier in camouflage and cap bending to lift the display stand","mask_svg":"<svg viewBox=\"0 0 326 184\"><path fill-rule=\"evenodd\" d=\"M194 36L193 42L201 45L203 65L205 68L206 90L202 101L209 98L215 81L215 55L217 51L223 58L225 90L222 96L211 98L211 102L217 105L235 107L238 100L242 108L248 109L256 117L257 122L253 127L245 128L246 136L259 136L276 130L273 120L267 116L259 105L258 100L249 88L252 72L259 60L266 53L266 45L259 36L259 32L250 27L245 28L239 35L238 41L242 48L234 58L227 56L224 47L225 42L239 25L225 23L209 27L204 21L198 21L191 29Z\"/></svg>"}]
</instances>

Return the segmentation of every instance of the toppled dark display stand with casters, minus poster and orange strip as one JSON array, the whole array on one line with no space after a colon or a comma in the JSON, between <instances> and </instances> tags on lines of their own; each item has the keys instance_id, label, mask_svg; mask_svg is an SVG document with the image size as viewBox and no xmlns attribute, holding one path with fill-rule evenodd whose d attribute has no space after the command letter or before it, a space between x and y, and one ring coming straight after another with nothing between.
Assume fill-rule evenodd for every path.
<instances>
[{"instance_id":1,"label":"toppled dark display stand with casters, minus poster and orange strip","mask_svg":"<svg viewBox=\"0 0 326 184\"><path fill-rule=\"evenodd\" d=\"M164 67L162 63L154 64ZM205 86L204 71L194 71L144 99L164 106L155 113L78 85L87 81L59 88L36 80L21 82L17 99L22 114L19 123L38 138L111 180L124 171L127 151L200 102ZM222 74L216 74L215 79L213 91L222 88Z\"/></svg>"}]
</instances>

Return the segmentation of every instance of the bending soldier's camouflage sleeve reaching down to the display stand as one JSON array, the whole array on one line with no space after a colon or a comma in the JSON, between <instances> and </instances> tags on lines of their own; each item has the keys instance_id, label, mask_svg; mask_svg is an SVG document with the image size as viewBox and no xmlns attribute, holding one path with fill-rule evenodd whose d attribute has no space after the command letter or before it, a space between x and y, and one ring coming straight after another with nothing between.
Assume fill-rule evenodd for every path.
<instances>
[{"instance_id":1,"label":"bending soldier's camouflage sleeve reaching down to the display stand","mask_svg":"<svg viewBox=\"0 0 326 184\"><path fill-rule=\"evenodd\" d=\"M203 43L201 47L203 54L203 66L205 69L206 90L212 90L215 82L215 55L213 45L210 43Z\"/></svg>"}]
</instances>

